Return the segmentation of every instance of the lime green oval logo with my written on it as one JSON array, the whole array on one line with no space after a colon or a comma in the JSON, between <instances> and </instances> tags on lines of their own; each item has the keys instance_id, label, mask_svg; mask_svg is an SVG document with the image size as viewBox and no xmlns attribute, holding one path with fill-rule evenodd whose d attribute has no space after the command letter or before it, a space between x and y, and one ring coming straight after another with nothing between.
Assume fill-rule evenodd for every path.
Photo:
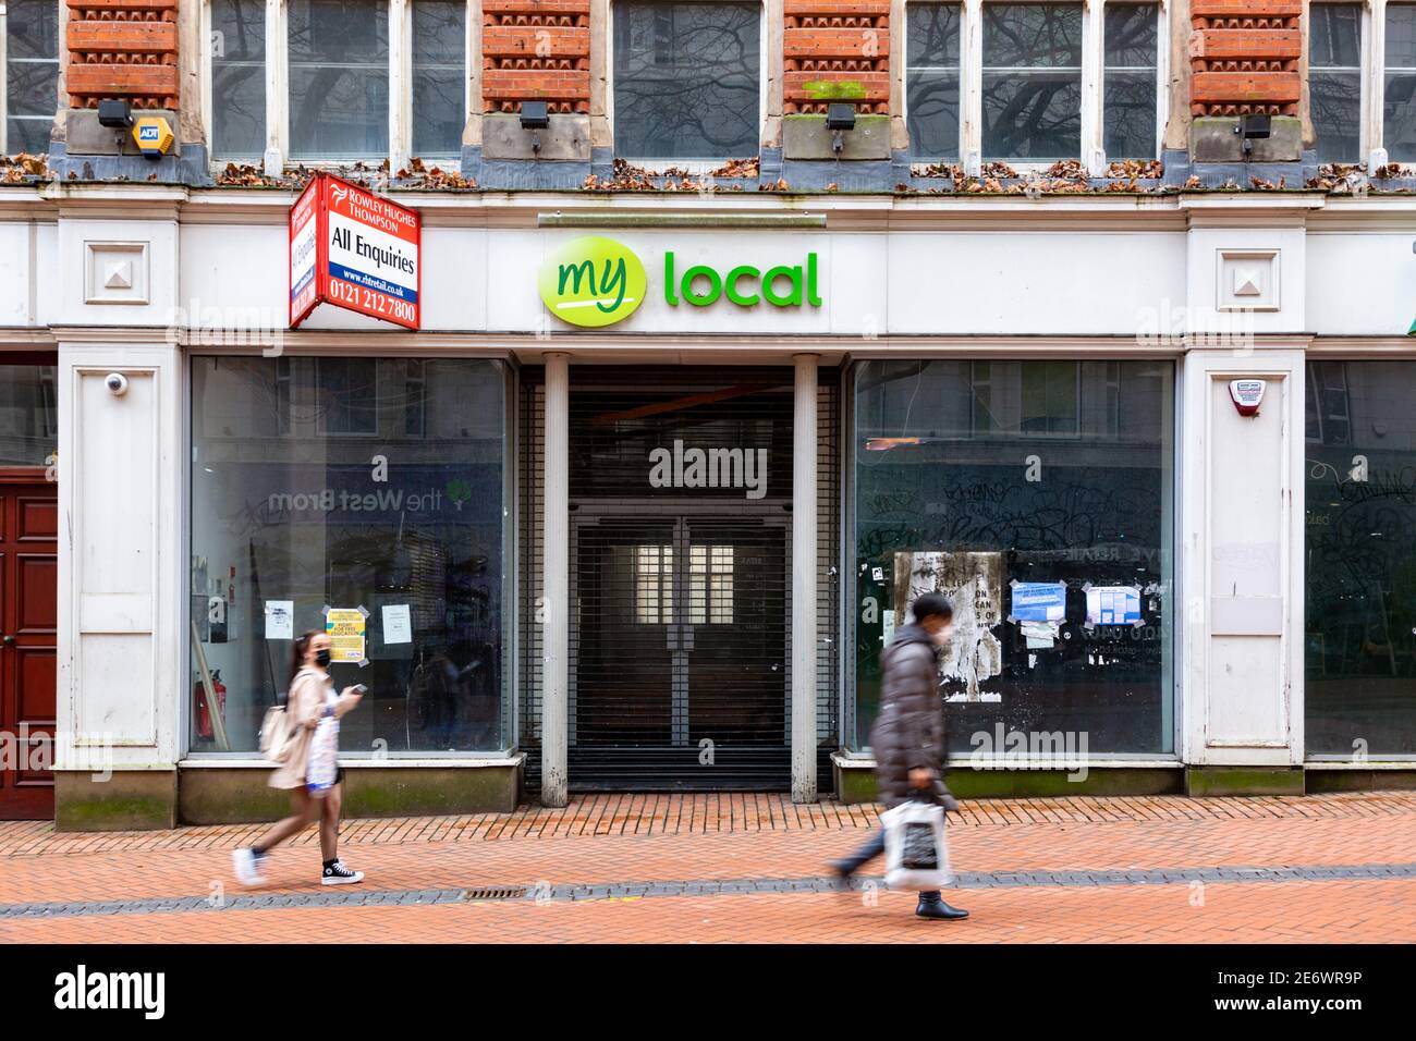
<instances>
[{"instance_id":1,"label":"lime green oval logo with my written on it","mask_svg":"<svg viewBox=\"0 0 1416 1041\"><path fill-rule=\"evenodd\" d=\"M558 246L541 268L541 300L572 326L623 322L644 300L649 279L632 249L588 235Z\"/></svg>"}]
</instances>

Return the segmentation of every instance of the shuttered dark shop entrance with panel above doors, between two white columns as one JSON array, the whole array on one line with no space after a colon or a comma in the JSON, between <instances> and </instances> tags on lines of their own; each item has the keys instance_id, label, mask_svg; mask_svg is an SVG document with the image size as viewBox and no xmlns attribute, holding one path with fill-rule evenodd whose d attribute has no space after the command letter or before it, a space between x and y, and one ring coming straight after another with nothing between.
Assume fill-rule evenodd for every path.
<instances>
[{"instance_id":1,"label":"shuttered dark shop entrance with panel above doors, between two white columns","mask_svg":"<svg viewBox=\"0 0 1416 1041\"><path fill-rule=\"evenodd\" d=\"M568 769L790 786L792 374L576 370Z\"/></svg>"}]
</instances>

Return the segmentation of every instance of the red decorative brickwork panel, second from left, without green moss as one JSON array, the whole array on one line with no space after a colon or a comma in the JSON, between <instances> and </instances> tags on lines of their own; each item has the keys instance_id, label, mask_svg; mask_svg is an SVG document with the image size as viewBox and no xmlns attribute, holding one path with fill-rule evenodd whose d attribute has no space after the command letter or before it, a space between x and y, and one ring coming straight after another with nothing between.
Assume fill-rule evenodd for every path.
<instances>
[{"instance_id":1,"label":"red decorative brickwork panel, second from left, without green moss","mask_svg":"<svg viewBox=\"0 0 1416 1041\"><path fill-rule=\"evenodd\" d=\"M589 0L484 0L481 11L487 112L515 112L523 101L590 110Z\"/></svg>"}]
</instances>

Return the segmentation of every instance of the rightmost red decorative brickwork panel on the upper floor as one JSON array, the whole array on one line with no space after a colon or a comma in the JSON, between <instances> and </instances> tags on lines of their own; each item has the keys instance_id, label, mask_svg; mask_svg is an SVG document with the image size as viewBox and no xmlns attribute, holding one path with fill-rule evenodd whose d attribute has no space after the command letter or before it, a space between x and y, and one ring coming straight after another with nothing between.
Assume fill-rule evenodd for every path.
<instances>
[{"instance_id":1,"label":"rightmost red decorative brickwork panel on the upper floor","mask_svg":"<svg viewBox=\"0 0 1416 1041\"><path fill-rule=\"evenodd\" d=\"M1189 110L1298 115L1303 0L1192 0Z\"/></svg>"}]
</instances>

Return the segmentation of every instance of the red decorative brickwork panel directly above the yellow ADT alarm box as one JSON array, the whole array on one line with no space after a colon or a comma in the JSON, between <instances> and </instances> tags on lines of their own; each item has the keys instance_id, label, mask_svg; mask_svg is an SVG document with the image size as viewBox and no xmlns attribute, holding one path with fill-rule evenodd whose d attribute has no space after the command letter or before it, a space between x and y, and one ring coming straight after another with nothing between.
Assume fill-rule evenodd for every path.
<instances>
[{"instance_id":1,"label":"red decorative brickwork panel directly above the yellow ADT alarm box","mask_svg":"<svg viewBox=\"0 0 1416 1041\"><path fill-rule=\"evenodd\" d=\"M177 108L177 0L68 0L69 108Z\"/></svg>"}]
</instances>

